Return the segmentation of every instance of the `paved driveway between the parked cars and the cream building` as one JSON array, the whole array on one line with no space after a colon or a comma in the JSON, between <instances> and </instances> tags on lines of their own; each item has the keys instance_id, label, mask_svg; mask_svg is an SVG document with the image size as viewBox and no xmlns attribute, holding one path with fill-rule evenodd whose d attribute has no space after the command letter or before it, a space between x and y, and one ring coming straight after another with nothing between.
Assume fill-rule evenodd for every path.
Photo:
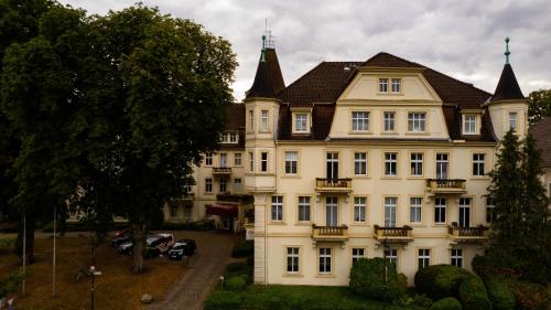
<instances>
[{"instance_id":1,"label":"paved driveway between the parked cars and the cream building","mask_svg":"<svg viewBox=\"0 0 551 310\"><path fill-rule=\"evenodd\" d=\"M194 238L197 252L192 256L185 276L174 284L164 300L153 302L149 310L202 310L203 302L220 280L226 265L233 261L231 248L238 239L233 234L174 232L175 238ZM159 299L158 299L159 300Z\"/></svg>"}]
</instances>

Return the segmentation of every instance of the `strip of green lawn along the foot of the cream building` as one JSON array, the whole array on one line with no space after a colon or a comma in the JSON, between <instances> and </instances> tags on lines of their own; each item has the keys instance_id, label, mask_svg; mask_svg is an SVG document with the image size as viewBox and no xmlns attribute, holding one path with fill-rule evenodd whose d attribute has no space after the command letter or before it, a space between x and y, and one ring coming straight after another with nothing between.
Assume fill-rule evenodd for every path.
<instances>
[{"instance_id":1,"label":"strip of green lawn along the foot of the cream building","mask_svg":"<svg viewBox=\"0 0 551 310\"><path fill-rule=\"evenodd\" d=\"M406 310L424 308L366 300L352 295L346 287L253 285L245 291L219 289L213 291L205 302L205 310L214 309Z\"/></svg>"}]
</instances>

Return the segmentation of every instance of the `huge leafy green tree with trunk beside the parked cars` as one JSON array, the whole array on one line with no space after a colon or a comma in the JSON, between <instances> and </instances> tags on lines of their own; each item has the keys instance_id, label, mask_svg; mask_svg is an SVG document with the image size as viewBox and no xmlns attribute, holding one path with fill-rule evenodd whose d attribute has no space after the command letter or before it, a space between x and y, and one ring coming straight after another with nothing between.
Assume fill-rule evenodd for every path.
<instances>
[{"instance_id":1,"label":"huge leafy green tree with trunk beside the parked cars","mask_svg":"<svg viewBox=\"0 0 551 310\"><path fill-rule=\"evenodd\" d=\"M95 126L95 172L82 201L101 200L94 204L129 220L140 272L148 226L183 194L201 153L217 147L236 55L199 24L141 4L95 17L90 41L95 73L82 118Z\"/></svg>"}]
</instances>

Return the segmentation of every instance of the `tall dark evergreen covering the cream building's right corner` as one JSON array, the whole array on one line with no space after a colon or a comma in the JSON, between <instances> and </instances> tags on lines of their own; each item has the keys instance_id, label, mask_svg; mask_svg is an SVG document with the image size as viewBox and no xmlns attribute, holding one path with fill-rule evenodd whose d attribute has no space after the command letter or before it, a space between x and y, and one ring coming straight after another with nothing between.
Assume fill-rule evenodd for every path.
<instances>
[{"instance_id":1,"label":"tall dark evergreen covering the cream building's right corner","mask_svg":"<svg viewBox=\"0 0 551 310\"><path fill-rule=\"evenodd\" d=\"M551 277L549 200L541 183L541 152L531 136L519 141L509 130L489 175L489 196L495 203L489 254L522 277L545 282Z\"/></svg>"}]
</instances>

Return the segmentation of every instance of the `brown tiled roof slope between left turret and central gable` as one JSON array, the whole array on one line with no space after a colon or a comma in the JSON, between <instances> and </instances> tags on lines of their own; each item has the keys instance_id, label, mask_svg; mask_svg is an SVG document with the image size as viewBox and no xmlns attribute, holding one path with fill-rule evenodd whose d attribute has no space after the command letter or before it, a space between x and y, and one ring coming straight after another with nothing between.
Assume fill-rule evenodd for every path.
<instances>
[{"instance_id":1,"label":"brown tiled roof slope between left turret and central gable","mask_svg":"<svg viewBox=\"0 0 551 310\"><path fill-rule=\"evenodd\" d=\"M359 62L323 62L278 94L291 106L335 103ZM346 70L347 68L347 70Z\"/></svg>"}]
</instances>

